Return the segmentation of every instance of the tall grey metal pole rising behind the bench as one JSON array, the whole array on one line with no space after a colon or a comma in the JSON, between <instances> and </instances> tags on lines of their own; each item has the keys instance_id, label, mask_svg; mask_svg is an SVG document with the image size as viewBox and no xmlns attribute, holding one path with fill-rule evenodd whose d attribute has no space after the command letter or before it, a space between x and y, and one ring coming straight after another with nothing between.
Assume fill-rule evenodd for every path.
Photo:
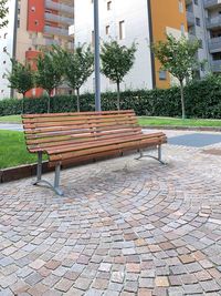
<instances>
[{"instance_id":1,"label":"tall grey metal pole rising behind the bench","mask_svg":"<svg viewBox=\"0 0 221 296\"><path fill-rule=\"evenodd\" d=\"M95 68L95 110L101 108L101 70L99 70L99 9L98 0L94 0L94 68Z\"/></svg>"}]
</instances>

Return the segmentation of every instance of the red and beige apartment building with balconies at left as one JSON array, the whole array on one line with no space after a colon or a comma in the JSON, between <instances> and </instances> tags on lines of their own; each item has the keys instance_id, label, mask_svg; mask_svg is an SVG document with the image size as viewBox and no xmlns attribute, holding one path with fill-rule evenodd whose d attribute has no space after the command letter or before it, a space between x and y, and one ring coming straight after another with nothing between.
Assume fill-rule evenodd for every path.
<instances>
[{"instance_id":1,"label":"red and beige apartment building with balconies at left","mask_svg":"<svg viewBox=\"0 0 221 296\"><path fill-rule=\"evenodd\" d=\"M74 37L69 34L69 28L74 22L74 0L10 0L9 4L10 14L15 19L15 25L10 23L10 27L4 29L6 42L10 42L14 48L13 52L7 49L9 55L23 63L29 61L34 68L34 59L41 48L52 44L65 49L74 48ZM10 63L2 62L2 72L7 70L10 71ZM8 81L2 75L0 99L9 98ZM60 92L65 92L65 89L63 85ZM40 95L42 92L40 89L33 89L27 95Z\"/></svg>"}]
</instances>

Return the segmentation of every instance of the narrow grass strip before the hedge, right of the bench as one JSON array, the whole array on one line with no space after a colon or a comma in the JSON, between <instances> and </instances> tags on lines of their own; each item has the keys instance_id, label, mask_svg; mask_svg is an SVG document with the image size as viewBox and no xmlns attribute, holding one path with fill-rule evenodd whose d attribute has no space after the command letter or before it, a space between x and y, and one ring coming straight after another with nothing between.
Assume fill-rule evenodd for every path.
<instances>
[{"instance_id":1,"label":"narrow grass strip before the hedge, right of the bench","mask_svg":"<svg viewBox=\"0 0 221 296\"><path fill-rule=\"evenodd\" d=\"M194 119L173 119L173 118L139 118L139 124L141 126L212 126L221 127L221 120L194 120Z\"/></svg>"}]
</instances>

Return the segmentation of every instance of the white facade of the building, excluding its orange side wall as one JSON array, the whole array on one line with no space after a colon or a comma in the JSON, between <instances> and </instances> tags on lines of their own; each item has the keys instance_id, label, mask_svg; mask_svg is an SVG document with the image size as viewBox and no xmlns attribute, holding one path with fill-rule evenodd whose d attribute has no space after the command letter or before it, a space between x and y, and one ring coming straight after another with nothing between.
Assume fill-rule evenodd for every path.
<instances>
[{"instance_id":1,"label":"white facade of the building, excluding its orange side wall","mask_svg":"<svg viewBox=\"0 0 221 296\"><path fill-rule=\"evenodd\" d=\"M75 0L75 45L93 44L93 1ZM148 4L146 0L99 0L101 42L117 40L119 44L137 44L136 61L122 83L122 90L152 89ZM116 85L102 75L102 92L116 90ZM94 91L94 74L82 88Z\"/></svg>"}]
</instances>

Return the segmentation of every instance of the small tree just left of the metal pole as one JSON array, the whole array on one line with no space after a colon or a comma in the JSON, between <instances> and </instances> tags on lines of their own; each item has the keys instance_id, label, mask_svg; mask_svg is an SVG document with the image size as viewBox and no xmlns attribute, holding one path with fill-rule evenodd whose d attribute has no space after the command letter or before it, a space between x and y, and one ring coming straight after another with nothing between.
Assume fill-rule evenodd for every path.
<instances>
[{"instance_id":1,"label":"small tree just left of the metal pole","mask_svg":"<svg viewBox=\"0 0 221 296\"><path fill-rule=\"evenodd\" d=\"M94 71L94 54L90 47L65 52L65 78L70 88L76 91L77 112L80 112L80 89Z\"/></svg>"}]
</instances>

